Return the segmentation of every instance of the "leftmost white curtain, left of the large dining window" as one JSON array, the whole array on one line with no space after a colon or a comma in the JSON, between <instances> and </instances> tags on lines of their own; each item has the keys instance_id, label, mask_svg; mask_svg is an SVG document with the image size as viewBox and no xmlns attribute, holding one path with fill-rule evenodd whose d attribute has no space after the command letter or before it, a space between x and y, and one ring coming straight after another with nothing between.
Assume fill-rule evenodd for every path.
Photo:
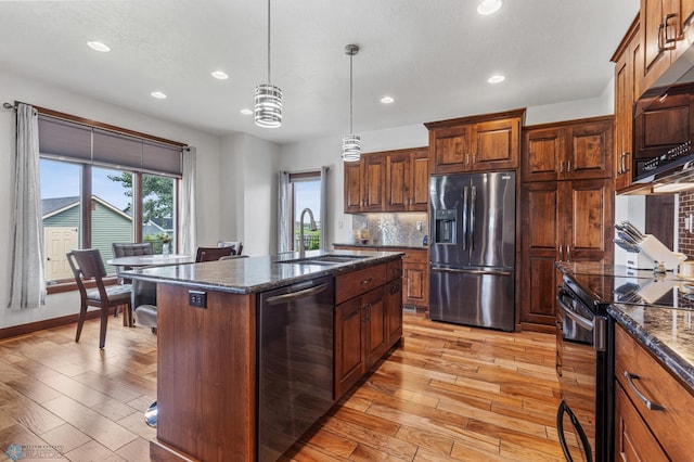
<instances>
[{"instance_id":1,"label":"leftmost white curtain, left of the large dining window","mask_svg":"<svg viewBox=\"0 0 694 462\"><path fill-rule=\"evenodd\" d=\"M46 304L39 125L34 107L22 103L17 105L14 178L12 269L8 308L38 308Z\"/></svg>"}]
</instances>

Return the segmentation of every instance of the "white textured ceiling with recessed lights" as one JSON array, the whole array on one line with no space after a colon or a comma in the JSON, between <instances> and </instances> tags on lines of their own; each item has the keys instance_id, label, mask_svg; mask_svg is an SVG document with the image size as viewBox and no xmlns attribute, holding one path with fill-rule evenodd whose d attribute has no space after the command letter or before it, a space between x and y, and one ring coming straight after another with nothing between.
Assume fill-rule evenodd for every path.
<instances>
[{"instance_id":1,"label":"white textured ceiling with recessed lights","mask_svg":"<svg viewBox=\"0 0 694 462\"><path fill-rule=\"evenodd\" d=\"M639 0L504 0L480 16L480 1L274 0L272 84L284 121L273 129L240 113L267 82L264 0L0 0L0 69L207 132L285 143L349 131L347 43L361 48L359 134L597 98L639 10ZM216 69L230 78L211 78ZM494 73L506 80L487 84ZM386 94L395 103L380 103Z\"/></svg>"}]
</instances>

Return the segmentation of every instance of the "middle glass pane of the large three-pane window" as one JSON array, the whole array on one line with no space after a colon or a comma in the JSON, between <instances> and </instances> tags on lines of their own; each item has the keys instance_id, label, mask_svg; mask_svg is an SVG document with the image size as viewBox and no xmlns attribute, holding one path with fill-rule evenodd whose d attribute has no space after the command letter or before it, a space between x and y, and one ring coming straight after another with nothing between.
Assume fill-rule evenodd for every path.
<instances>
[{"instance_id":1,"label":"middle glass pane of the large three-pane window","mask_svg":"<svg viewBox=\"0 0 694 462\"><path fill-rule=\"evenodd\" d=\"M134 241L132 179L129 171L91 167L91 248L99 248L104 264L113 258L112 243ZM106 272L116 269L106 265Z\"/></svg>"}]
</instances>

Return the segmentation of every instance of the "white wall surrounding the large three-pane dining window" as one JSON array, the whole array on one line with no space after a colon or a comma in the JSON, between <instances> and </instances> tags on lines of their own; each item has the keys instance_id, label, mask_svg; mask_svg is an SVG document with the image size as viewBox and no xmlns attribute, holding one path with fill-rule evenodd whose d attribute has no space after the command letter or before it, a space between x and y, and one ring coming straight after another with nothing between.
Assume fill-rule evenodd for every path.
<instances>
[{"instance_id":1,"label":"white wall surrounding the large three-pane dining window","mask_svg":"<svg viewBox=\"0 0 694 462\"><path fill-rule=\"evenodd\" d=\"M146 98L146 97L143 97ZM22 101L36 106L115 125L123 128L188 143L197 147L197 219L198 241L217 242L221 235L219 215L219 137L190 127L133 113L113 104L66 92L26 77L0 72L0 102ZM10 217L14 190L14 112L0 110L0 244L11 248ZM5 252L7 257L7 252ZM74 315L79 309L77 292L50 295L47 304L37 309L5 309L9 298L10 262L0 264L0 328Z\"/></svg>"}]
</instances>

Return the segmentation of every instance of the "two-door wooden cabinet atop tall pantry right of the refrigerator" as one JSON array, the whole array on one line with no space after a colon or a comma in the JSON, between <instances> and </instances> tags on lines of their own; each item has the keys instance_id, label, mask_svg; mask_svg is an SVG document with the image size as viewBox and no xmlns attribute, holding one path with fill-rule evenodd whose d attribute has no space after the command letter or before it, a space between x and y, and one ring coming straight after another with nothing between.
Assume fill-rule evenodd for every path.
<instances>
[{"instance_id":1,"label":"two-door wooden cabinet atop tall pantry right of the refrigerator","mask_svg":"<svg viewBox=\"0 0 694 462\"><path fill-rule=\"evenodd\" d=\"M612 116L524 130L523 181L611 178Z\"/></svg>"}]
</instances>

